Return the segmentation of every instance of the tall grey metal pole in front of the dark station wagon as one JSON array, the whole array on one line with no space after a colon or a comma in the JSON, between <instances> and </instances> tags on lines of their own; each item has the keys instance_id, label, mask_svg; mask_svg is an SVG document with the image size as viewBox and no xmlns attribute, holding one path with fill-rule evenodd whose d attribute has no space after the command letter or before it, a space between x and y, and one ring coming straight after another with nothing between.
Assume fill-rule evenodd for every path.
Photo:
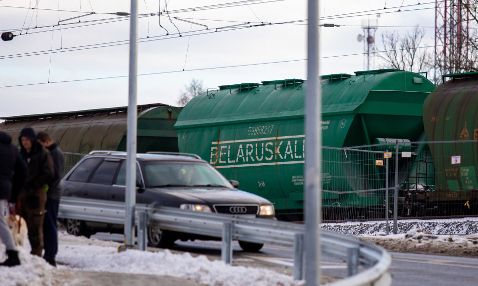
<instances>
[{"instance_id":1,"label":"tall grey metal pole in front of the dark station wagon","mask_svg":"<svg viewBox=\"0 0 478 286\"><path fill-rule=\"evenodd\" d=\"M131 0L128 133L126 146L125 245L135 245L136 135L137 135L137 0Z\"/></svg>"}]
</instances>

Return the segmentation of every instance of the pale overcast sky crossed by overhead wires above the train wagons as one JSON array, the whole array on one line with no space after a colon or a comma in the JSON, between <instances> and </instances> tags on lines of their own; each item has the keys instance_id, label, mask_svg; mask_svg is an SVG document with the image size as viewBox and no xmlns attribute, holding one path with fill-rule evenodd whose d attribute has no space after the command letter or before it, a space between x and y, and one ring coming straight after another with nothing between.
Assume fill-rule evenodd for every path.
<instances>
[{"instance_id":1,"label":"pale overcast sky crossed by overhead wires above the train wagons","mask_svg":"<svg viewBox=\"0 0 478 286\"><path fill-rule=\"evenodd\" d=\"M364 44L357 41L363 20L378 21L378 50L382 33L406 33L415 25L429 27L422 45L433 43L435 1L418 3L321 0L320 22L341 27L320 30L320 73L365 70ZM165 4L138 0L143 14L138 22L138 104L176 106L192 79L217 88L307 78L307 0ZM158 17L160 10L164 12ZM0 40L0 116L126 106L130 22L129 17L109 13L129 11L127 0L0 0L0 33L16 35L11 41ZM87 15L91 12L95 14ZM68 20L80 15L85 16ZM256 26L261 23L272 24ZM231 25L239 26L222 28ZM357 55L346 56L352 54ZM279 63L262 64L271 62ZM237 67L241 65L246 66ZM370 69L380 65L372 61ZM97 79L105 77L115 78Z\"/></svg>"}]
</instances>

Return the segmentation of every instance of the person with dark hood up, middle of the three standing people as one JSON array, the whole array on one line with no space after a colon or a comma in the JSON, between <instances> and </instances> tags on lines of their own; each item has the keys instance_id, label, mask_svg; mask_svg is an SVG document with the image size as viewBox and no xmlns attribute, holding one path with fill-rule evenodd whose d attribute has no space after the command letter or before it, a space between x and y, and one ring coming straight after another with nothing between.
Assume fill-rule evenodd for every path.
<instances>
[{"instance_id":1,"label":"person with dark hood up, middle of the three standing people","mask_svg":"<svg viewBox=\"0 0 478 286\"><path fill-rule=\"evenodd\" d=\"M30 253L41 257L43 252L43 219L45 216L47 185L55 175L50 151L36 141L32 128L20 132L20 154L28 165L29 176L18 200L20 212L27 221Z\"/></svg>"}]
</instances>

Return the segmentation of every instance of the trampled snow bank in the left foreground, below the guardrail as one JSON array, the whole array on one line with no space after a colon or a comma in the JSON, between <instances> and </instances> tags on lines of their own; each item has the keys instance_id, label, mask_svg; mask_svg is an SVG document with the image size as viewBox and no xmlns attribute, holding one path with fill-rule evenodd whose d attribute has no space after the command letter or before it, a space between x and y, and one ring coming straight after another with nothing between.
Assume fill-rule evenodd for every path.
<instances>
[{"instance_id":1,"label":"trampled snow bank in the left foreground, below the guardrail","mask_svg":"<svg viewBox=\"0 0 478 286\"><path fill-rule=\"evenodd\" d=\"M226 265L220 260L210 261L204 255L192 257L189 253L173 254L169 250L126 250L118 253L120 245L60 232L58 269L173 276L213 286L304 284L304 281L295 281L291 276L266 268ZM1 245L0 261L6 258L4 250ZM26 249L20 252L22 265L0 267L1 286L69 285L67 281L59 281L57 269L29 252L27 243Z\"/></svg>"}]
</instances>

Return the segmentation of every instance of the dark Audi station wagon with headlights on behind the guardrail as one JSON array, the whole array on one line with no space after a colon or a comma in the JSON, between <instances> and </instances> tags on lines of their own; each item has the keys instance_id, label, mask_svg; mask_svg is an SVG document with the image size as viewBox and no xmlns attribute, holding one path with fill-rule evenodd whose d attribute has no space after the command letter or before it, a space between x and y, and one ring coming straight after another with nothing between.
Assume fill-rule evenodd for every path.
<instances>
[{"instance_id":1,"label":"dark Audi station wagon with headlights on behind the guardrail","mask_svg":"<svg viewBox=\"0 0 478 286\"><path fill-rule=\"evenodd\" d=\"M193 154L154 152L137 154L137 203L185 210L274 218L267 199L240 191L239 182L227 180L209 163ZM62 196L125 201L126 152L92 151L62 180ZM98 231L123 233L123 225L65 219L73 235ZM148 245L171 247L177 239L212 239L150 227ZM257 251L262 244L239 241L243 250Z\"/></svg>"}]
</instances>

